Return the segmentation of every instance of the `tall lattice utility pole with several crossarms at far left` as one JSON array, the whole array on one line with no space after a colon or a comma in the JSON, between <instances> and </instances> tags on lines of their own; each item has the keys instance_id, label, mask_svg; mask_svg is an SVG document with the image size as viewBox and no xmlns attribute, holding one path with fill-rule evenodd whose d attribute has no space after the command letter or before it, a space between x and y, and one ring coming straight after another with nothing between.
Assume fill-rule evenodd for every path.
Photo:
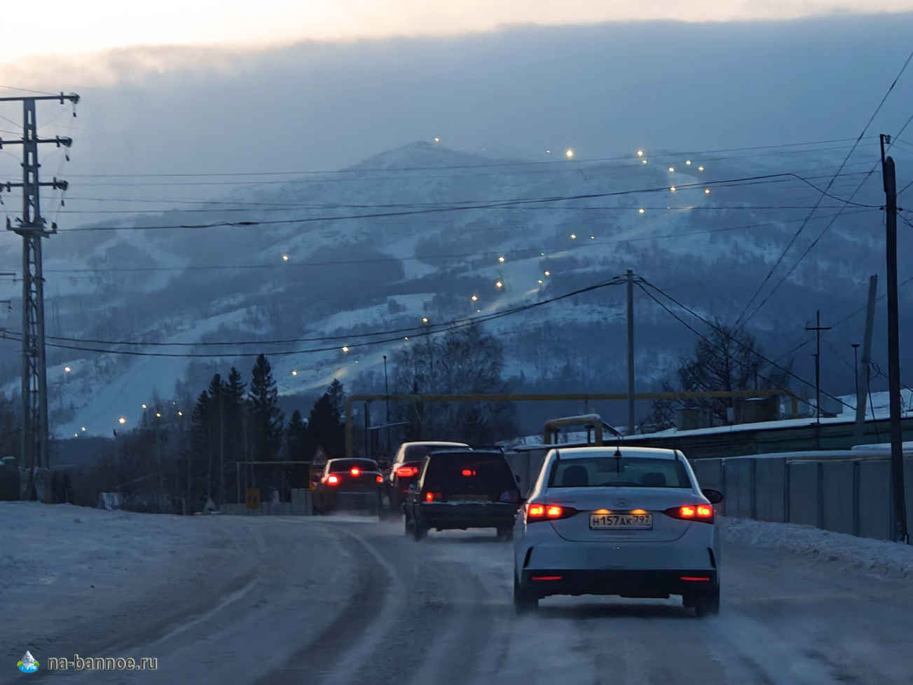
<instances>
[{"instance_id":1,"label":"tall lattice utility pole with several crossarms at far left","mask_svg":"<svg viewBox=\"0 0 913 685\"><path fill-rule=\"evenodd\" d=\"M3 184L6 191L22 188L22 216L16 225L6 219L6 230L22 237L22 441L21 460L28 465L28 497L35 486L35 470L49 468L47 454L47 371L45 353L45 278L41 259L41 238L57 233L57 224L41 216L39 191L42 186L67 189L66 181L44 182L38 180L38 144L52 142L58 147L72 145L71 138L38 138L36 118L37 100L69 100L75 106L79 95L70 93L59 96L33 96L27 98L0 98L0 102L22 102L22 139L4 141L6 145L22 145L22 183ZM76 116L76 111L73 112Z\"/></svg>"}]
</instances>

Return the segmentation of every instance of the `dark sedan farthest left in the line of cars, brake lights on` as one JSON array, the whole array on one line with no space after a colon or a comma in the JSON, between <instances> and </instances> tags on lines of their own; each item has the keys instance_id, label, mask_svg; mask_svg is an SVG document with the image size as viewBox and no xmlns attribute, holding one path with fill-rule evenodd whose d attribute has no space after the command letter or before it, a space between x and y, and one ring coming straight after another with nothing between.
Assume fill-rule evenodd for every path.
<instances>
[{"instance_id":1,"label":"dark sedan farthest left in the line of cars, brake lights on","mask_svg":"<svg viewBox=\"0 0 913 685\"><path fill-rule=\"evenodd\" d=\"M373 459L330 459L311 493L314 513L357 509L379 514L382 488L381 469Z\"/></svg>"}]
</instances>

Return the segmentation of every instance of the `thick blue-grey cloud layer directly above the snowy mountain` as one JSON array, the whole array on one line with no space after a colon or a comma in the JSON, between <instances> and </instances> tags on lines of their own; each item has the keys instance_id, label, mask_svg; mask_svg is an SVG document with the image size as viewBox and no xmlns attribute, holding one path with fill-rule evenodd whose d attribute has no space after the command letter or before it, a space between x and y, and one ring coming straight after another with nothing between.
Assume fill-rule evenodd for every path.
<instances>
[{"instance_id":1,"label":"thick blue-grey cloud layer directly above the snowy mountain","mask_svg":"<svg viewBox=\"0 0 913 685\"><path fill-rule=\"evenodd\" d=\"M42 5L41 14L55 16L55 4ZM769 15L773 7L790 15L825 6L816 0L718 4L729 13L738 8L739 16ZM89 41L94 35L95 48L141 40L131 31L104 27L113 16L135 26L129 14L138 11L134 5L112 3L120 15L113 10L104 15L108 18L93 25L94 34L87 26L71 25L69 39ZM192 9L181 30L162 28L155 36L178 41L191 35L186 33L190 26L199 28L194 36L213 40L236 37L206 33L216 26L240 31L237 22L243 16L233 5L220 10L213 26L194 24L200 19L196 8L203 4L184 5ZM257 7L271 5L278 7L276 0ZM349 6L355 33L386 31L383 23L369 21L382 9L389 21L398 17L395 26L403 33L427 33L441 17L423 15L425 4L418 2L363 2L358 11L339 0L306 5L310 21L322 16L326 26L341 26L331 18L339 16L339 7ZM545 11L548 4L540 5L543 16L556 18ZM586 14L587 5L565 2L561 19L596 18L594 10ZM686 7L711 6L651 5L668 16L689 16ZM164 12L173 3L156 6ZM335 7L337 14L320 11L321 6ZM514 5L497 11L484 3L447 6L454 12L462 8L457 14L468 22L465 26L480 27L529 19L538 5L528 2L520 11L517 4L514 14L509 11ZM605 16L622 16L612 14L614 5L600 6L607 7L601 10ZM286 10L289 17L300 11L291 3ZM260 16L278 14L277 9ZM156 26L152 18L140 24L150 31ZM897 76L911 35L913 14L901 14L511 26L475 34L299 41L256 49L122 47L79 58L55 56L51 48L41 58L8 64L0 83L79 92L78 119L68 107L50 102L41 106L39 121L47 123L44 133L75 139L68 164L55 150L42 152L47 155L43 173L63 174L73 186L71 195L85 196L100 180L80 174L335 169L434 136L460 150L525 158L536 158L547 147L572 146L581 159L640 147L687 151L845 138L858 134ZM5 38L0 50L9 49ZM911 112L913 67L871 132L897 132ZM0 130L6 131L0 136L10 137L21 110L0 105L0 115L9 120L0 120ZM863 152L874 153L874 144ZM2 152L0 174L15 177L16 155ZM106 197L176 192L165 186L90 189ZM194 196L221 190L197 187Z\"/></svg>"}]
</instances>

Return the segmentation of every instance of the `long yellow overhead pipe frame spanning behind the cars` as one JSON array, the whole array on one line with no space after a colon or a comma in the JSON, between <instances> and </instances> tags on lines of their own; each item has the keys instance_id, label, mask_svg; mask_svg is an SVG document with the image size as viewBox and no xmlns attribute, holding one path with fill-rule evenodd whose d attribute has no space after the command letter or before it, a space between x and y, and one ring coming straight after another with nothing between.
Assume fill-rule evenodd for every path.
<instances>
[{"instance_id":1,"label":"long yellow overhead pipe frame spanning behind the cars","mask_svg":"<svg viewBox=\"0 0 913 685\"><path fill-rule=\"evenodd\" d=\"M713 399L726 397L769 397L789 395L792 397L792 417L798 416L798 398L788 390L712 390L687 393L635 393L635 400L657 399ZM569 394L522 394L493 393L490 395L351 395L345 402L345 454L352 458L352 404L392 399L405 402L548 402L551 400L627 400L627 393L569 393Z\"/></svg>"}]
</instances>

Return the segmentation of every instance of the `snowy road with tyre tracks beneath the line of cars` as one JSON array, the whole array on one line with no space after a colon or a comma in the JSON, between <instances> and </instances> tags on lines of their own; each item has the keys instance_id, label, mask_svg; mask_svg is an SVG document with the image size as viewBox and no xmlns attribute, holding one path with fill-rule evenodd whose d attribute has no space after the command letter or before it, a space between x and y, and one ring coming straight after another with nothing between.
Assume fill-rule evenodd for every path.
<instances>
[{"instance_id":1,"label":"snowy road with tyre tracks beneath the line of cars","mask_svg":"<svg viewBox=\"0 0 913 685\"><path fill-rule=\"evenodd\" d=\"M36 647L39 661L74 650L157 657L156 672L20 675L4 665L0 682L867 685L913 675L908 579L826 558L726 543L719 617L687 617L676 599L559 597L518 618L510 545L493 533L415 543L399 524L355 517L191 523L221 541L200 557L220 549L218 564L186 582L150 574L123 588L150 588L131 605L135 620L96 619L97 634L62 627ZM121 599L108 600L111 613L122 614ZM49 629L4 621L5 652L26 624Z\"/></svg>"}]
</instances>

